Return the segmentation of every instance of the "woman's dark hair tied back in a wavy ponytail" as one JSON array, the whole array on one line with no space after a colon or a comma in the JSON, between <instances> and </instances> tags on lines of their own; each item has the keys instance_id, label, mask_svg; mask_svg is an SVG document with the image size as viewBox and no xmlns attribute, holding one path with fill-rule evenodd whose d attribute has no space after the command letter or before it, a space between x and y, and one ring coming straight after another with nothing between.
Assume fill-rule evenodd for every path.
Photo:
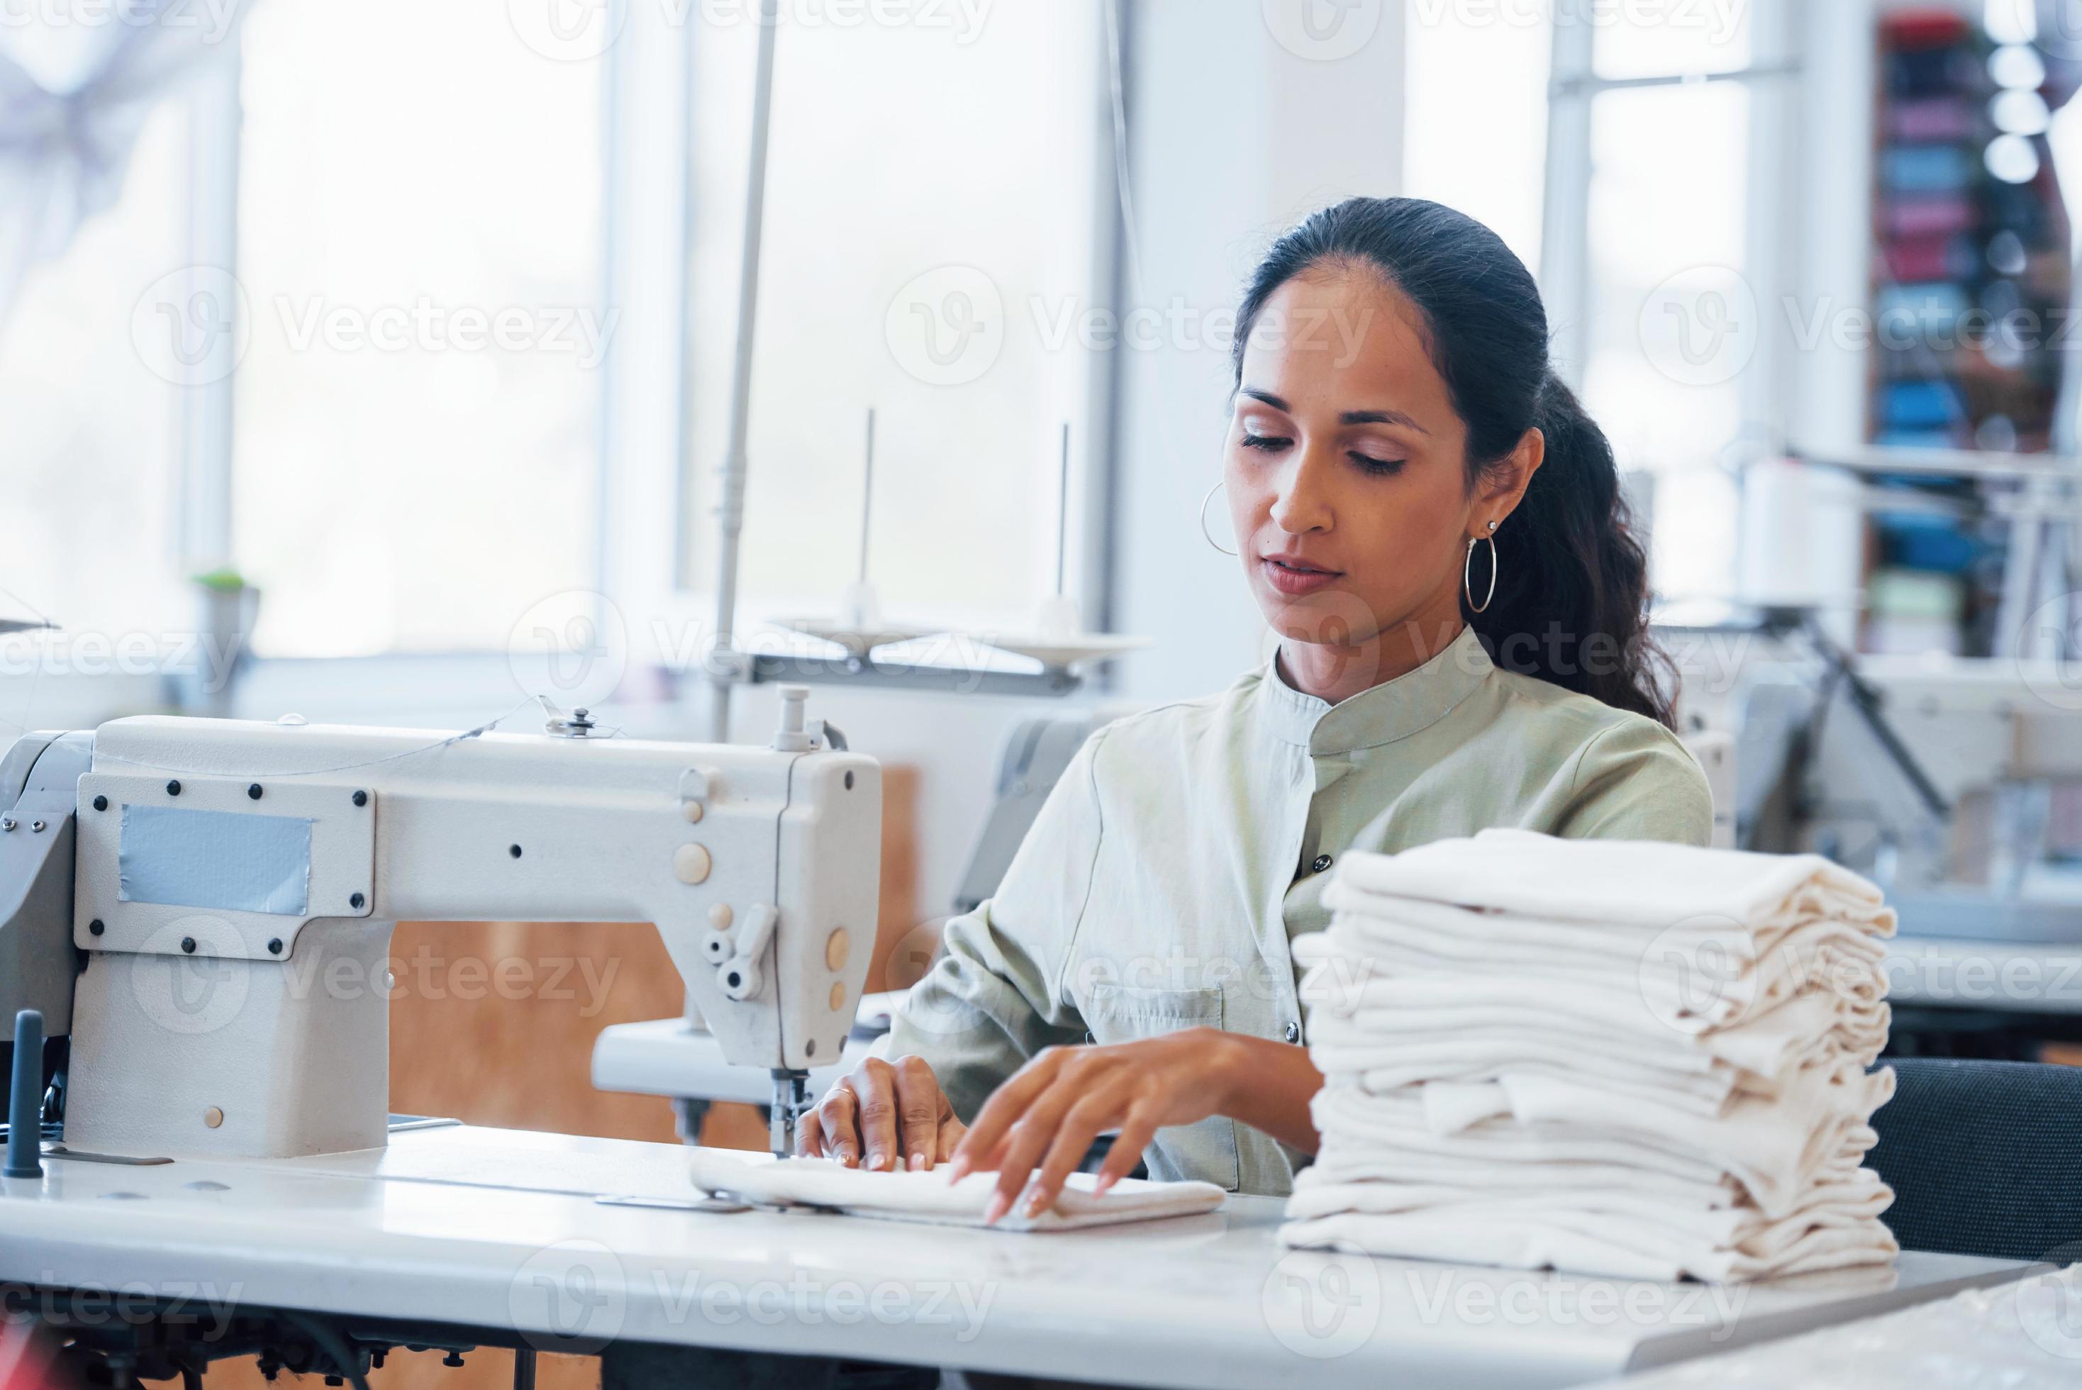
<instances>
[{"instance_id":1,"label":"woman's dark hair tied back in a wavy ponytail","mask_svg":"<svg viewBox=\"0 0 2082 1390\"><path fill-rule=\"evenodd\" d=\"M1237 312L1237 385L1266 300L1339 262L1374 271L1418 308L1432 366L1468 424L1470 491L1528 429L1547 439L1545 464L1495 537L1495 597L1476 614L1462 593L1462 616L1491 660L1670 726L1674 672L1649 639L1649 566L1611 443L1555 377L1541 291L1497 233L1420 198L1351 198L1316 212L1251 275Z\"/></svg>"}]
</instances>

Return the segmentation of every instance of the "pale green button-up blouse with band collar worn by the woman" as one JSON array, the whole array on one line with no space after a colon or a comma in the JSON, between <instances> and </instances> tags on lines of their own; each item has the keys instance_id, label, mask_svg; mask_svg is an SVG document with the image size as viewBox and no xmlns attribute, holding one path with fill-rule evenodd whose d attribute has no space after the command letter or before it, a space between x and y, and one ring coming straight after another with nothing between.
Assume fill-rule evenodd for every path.
<instances>
[{"instance_id":1,"label":"pale green button-up blouse with band collar worn by the woman","mask_svg":"<svg viewBox=\"0 0 2082 1390\"><path fill-rule=\"evenodd\" d=\"M877 1047L924 1057L970 1119L1049 1045L1214 1026L1303 1042L1289 941L1328 924L1349 849L1520 826L1705 845L1705 774L1661 724L1497 670L1472 630L1337 705L1276 658L1220 695L1099 728L997 895ZM1226 1117L1160 1130L1156 1178L1283 1194L1299 1155Z\"/></svg>"}]
</instances>

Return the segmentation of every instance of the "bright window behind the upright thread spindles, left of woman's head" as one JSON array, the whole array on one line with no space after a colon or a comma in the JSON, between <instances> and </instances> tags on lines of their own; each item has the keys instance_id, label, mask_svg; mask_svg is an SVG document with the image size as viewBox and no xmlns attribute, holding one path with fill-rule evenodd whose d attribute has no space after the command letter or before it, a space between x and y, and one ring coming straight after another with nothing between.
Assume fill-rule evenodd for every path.
<instances>
[{"instance_id":1,"label":"bright window behind the upright thread spindles, left of woman's head","mask_svg":"<svg viewBox=\"0 0 2082 1390\"><path fill-rule=\"evenodd\" d=\"M1062 424L1083 479L1110 333L1099 8L974 6L970 27L970 6L860 6L843 25L781 6L745 635L835 612L856 576L870 408L883 616L1031 626L1051 593ZM750 23L695 29L691 589L714 583L754 46Z\"/></svg>"}]
</instances>

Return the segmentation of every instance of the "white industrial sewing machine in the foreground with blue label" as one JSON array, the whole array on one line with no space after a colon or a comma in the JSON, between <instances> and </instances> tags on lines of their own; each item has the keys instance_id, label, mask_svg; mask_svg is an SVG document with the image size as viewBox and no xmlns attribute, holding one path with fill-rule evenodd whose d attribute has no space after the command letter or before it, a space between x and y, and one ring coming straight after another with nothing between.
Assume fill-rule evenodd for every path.
<instances>
[{"instance_id":1,"label":"white industrial sewing machine in the foreground with blue label","mask_svg":"<svg viewBox=\"0 0 2082 1390\"><path fill-rule=\"evenodd\" d=\"M768 747L129 718L31 735L0 1007L71 1034L69 1151L381 1149L400 920L656 922L793 1149L874 941L881 768L783 691ZM831 747L839 743L841 747ZM81 970L73 976L73 947ZM0 957L0 959L6 959Z\"/></svg>"}]
</instances>

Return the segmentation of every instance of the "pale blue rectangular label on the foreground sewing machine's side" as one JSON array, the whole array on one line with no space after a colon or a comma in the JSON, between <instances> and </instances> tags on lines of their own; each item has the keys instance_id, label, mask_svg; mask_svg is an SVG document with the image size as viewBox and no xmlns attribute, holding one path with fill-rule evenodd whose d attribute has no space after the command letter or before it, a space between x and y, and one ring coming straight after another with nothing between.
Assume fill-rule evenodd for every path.
<instances>
[{"instance_id":1,"label":"pale blue rectangular label on the foreground sewing machine's side","mask_svg":"<svg viewBox=\"0 0 2082 1390\"><path fill-rule=\"evenodd\" d=\"M119 866L125 903L302 916L310 901L310 822L125 805Z\"/></svg>"}]
</instances>

